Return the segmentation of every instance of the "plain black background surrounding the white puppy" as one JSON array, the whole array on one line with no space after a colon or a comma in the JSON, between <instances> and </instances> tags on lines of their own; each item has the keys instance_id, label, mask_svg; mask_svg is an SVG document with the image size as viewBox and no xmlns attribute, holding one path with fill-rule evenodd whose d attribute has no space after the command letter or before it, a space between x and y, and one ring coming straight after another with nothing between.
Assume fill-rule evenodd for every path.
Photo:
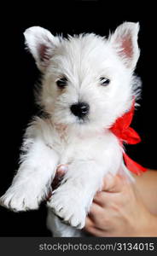
<instances>
[{"instance_id":1,"label":"plain black background surrounding the white puppy","mask_svg":"<svg viewBox=\"0 0 157 256\"><path fill-rule=\"evenodd\" d=\"M96 32L108 35L123 21L140 22L141 57L136 73L142 78L141 108L132 127L142 143L127 146L127 153L143 166L157 168L156 163L156 16L155 7L136 2L39 1L6 3L1 6L1 172L0 195L3 195L18 168L22 136L26 124L38 109L34 104L33 85L39 72L26 53L23 32L29 26L43 26L63 35ZM130 3L131 2L131 3ZM139 2L138 2L139 3ZM147 189L147 188L146 188ZM0 236L49 236L45 227L46 208L14 213L0 207Z\"/></svg>"}]
</instances>

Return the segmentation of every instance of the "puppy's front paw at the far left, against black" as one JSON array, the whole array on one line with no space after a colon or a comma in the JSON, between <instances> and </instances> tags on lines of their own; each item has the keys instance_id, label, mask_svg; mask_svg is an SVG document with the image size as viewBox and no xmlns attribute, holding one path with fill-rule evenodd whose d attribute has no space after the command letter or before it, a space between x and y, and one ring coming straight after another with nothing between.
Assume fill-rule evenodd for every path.
<instances>
[{"instance_id":1,"label":"puppy's front paw at the far left, against black","mask_svg":"<svg viewBox=\"0 0 157 256\"><path fill-rule=\"evenodd\" d=\"M33 190L25 188L9 188L0 198L0 205L14 212L38 209L39 198L34 195Z\"/></svg>"}]
</instances>

